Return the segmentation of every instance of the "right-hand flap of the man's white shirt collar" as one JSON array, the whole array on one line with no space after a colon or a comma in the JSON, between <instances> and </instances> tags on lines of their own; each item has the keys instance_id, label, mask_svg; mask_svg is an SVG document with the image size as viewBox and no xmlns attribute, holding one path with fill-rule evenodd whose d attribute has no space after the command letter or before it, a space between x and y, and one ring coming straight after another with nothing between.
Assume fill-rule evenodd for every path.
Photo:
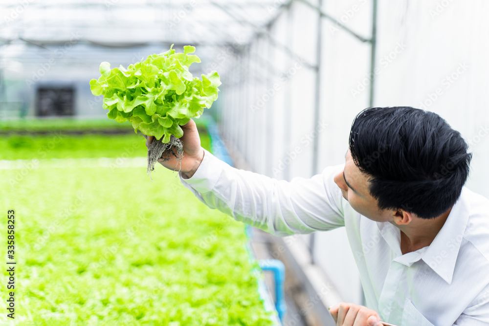
<instances>
[{"instance_id":1,"label":"right-hand flap of the man's white shirt collar","mask_svg":"<svg viewBox=\"0 0 489 326\"><path fill-rule=\"evenodd\" d=\"M467 228L468 216L469 204L464 187L442 229L422 256L422 260L448 284L452 282L455 263Z\"/></svg>"}]
</instances>

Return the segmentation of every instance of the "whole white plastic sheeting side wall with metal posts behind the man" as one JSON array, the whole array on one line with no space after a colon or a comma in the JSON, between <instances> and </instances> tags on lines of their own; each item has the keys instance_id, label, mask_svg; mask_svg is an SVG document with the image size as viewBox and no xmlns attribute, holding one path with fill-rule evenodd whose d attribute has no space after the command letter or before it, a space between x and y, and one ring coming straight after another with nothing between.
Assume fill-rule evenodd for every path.
<instances>
[{"instance_id":1,"label":"whole white plastic sheeting side wall with metal posts behind the man","mask_svg":"<svg viewBox=\"0 0 489 326\"><path fill-rule=\"evenodd\" d=\"M323 10L370 38L372 0L325 1ZM374 106L432 110L471 144L467 186L489 197L487 58L489 3L378 1ZM310 177L312 140L319 141L318 173L344 163L356 114L369 106L370 44L323 18L320 117L314 121L317 11L294 1L261 36L228 60L221 128L251 168L270 177ZM280 46L302 57L298 62ZM299 60L301 61L301 60ZM233 82L231 82L231 80ZM274 85L276 86L274 89ZM309 243L310 236L298 239ZM362 303L361 285L343 229L316 233L315 262L345 301Z\"/></svg>"}]
</instances>

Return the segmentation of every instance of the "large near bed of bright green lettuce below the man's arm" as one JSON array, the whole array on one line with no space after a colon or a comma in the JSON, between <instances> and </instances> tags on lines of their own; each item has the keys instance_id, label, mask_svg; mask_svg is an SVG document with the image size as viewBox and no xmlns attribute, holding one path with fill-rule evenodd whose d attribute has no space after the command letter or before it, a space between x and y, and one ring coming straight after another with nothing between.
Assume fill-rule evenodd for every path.
<instances>
[{"instance_id":1,"label":"large near bed of bright green lettuce below the man's arm","mask_svg":"<svg viewBox=\"0 0 489 326\"><path fill-rule=\"evenodd\" d=\"M176 176L159 165L154 182L144 167L0 170L0 207L16 211L15 324L272 325L244 225Z\"/></svg>"}]
</instances>

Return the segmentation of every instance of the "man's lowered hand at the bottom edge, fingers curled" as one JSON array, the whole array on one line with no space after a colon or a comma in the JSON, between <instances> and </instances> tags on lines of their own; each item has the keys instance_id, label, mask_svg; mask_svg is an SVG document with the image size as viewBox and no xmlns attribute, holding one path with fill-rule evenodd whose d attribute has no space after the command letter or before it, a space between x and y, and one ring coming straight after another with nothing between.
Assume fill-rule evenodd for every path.
<instances>
[{"instance_id":1,"label":"man's lowered hand at the bottom edge, fingers curled","mask_svg":"<svg viewBox=\"0 0 489 326\"><path fill-rule=\"evenodd\" d=\"M382 326L375 310L358 304L341 303L330 308L336 326Z\"/></svg>"}]
</instances>

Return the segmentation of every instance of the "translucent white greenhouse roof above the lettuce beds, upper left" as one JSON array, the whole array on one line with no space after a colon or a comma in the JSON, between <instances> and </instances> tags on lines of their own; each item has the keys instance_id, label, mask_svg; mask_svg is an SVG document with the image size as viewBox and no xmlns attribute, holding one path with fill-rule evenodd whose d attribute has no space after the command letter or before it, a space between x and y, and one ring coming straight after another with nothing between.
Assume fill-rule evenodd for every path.
<instances>
[{"instance_id":1,"label":"translucent white greenhouse roof above the lettuce beds, upper left","mask_svg":"<svg viewBox=\"0 0 489 326\"><path fill-rule=\"evenodd\" d=\"M229 45L260 33L289 1L24 0L1 4L2 44ZM238 40L237 40L238 39Z\"/></svg>"}]
</instances>

